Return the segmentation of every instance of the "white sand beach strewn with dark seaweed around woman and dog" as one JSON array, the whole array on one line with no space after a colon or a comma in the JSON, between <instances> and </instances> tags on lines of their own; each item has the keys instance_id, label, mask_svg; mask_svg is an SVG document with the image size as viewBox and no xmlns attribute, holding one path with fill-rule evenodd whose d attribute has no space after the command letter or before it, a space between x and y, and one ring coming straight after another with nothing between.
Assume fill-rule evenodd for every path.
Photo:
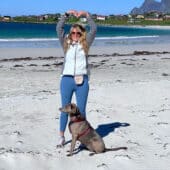
<instances>
[{"instance_id":1,"label":"white sand beach strewn with dark seaweed around woman and dog","mask_svg":"<svg viewBox=\"0 0 170 170\"><path fill-rule=\"evenodd\" d=\"M62 61L61 49L0 49L0 170L169 170L169 44L90 51L87 119L126 151L56 148Z\"/></svg>"}]
</instances>

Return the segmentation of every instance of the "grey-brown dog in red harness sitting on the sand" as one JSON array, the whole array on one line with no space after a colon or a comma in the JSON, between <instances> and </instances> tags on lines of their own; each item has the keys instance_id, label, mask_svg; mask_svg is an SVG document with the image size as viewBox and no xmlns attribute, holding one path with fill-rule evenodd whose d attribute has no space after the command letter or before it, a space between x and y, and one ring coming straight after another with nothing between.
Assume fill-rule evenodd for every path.
<instances>
[{"instance_id":1,"label":"grey-brown dog in red harness sitting on the sand","mask_svg":"<svg viewBox=\"0 0 170 170\"><path fill-rule=\"evenodd\" d=\"M77 140L79 140L83 145L87 147L87 149L93 152L91 155L106 151L127 149L127 147L118 147L110 149L106 148L101 136L91 127L89 122L81 116L80 111L75 104L67 104L59 110L68 113L70 116L69 130L72 134L72 142L70 154L68 154L67 156L71 156L73 154Z\"/></svg>"}]
</instances>

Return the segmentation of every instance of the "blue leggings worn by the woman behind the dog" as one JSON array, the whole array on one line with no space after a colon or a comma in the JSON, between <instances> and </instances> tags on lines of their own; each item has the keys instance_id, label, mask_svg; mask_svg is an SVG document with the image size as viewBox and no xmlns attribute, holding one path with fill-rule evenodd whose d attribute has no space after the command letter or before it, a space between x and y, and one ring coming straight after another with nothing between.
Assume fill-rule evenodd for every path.
<instances>
[{"instance_id":1,"label":"blue leggings worn by the woman behind the dog","mask_svg":"<svg viewBox=\"0 0 170 170\"><path fill-rule=\"evenodd\" d=\"M73 76L64 75L60 82L60 93L62 107L71 103L73 93L76 96L77 106L82 116L86 117L86 103L89 92L88 76L84 75L84 82L82 85L76 85ZM60 115L60 131L64 132L68 122L68 114L61 112Z\"/></svg>"}]
</instances>

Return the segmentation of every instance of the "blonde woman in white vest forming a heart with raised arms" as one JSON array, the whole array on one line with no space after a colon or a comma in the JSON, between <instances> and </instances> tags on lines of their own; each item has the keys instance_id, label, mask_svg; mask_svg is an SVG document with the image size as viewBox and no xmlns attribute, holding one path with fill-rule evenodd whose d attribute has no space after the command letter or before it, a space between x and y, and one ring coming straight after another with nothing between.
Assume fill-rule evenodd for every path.
<instances>
[{"instance_id":1,"label":"blonde woman in white vest forming a heart with raised arms","mask_svg":"<svg viewBox=\"0 0 170 170\"><path fill-rule=\"evenodd\" d=\"M69 34L65 36L64 23L69 15L86 17L90 26L90 31L87 33L83 26L74 24L72 25ZM89 92L87 56L89 47L96 34L96 25L89 13L85 11L77 12L75 10L70 10L66 12L58 22L57 34L65 54L60 82L62 107L71 103L73 93L75 93L77 106L81 114L86 117L86 103ZM61 112L59 146L62 146L65 143L64 132L67 121L68 114Z\"/></svg>"}]
</instances>

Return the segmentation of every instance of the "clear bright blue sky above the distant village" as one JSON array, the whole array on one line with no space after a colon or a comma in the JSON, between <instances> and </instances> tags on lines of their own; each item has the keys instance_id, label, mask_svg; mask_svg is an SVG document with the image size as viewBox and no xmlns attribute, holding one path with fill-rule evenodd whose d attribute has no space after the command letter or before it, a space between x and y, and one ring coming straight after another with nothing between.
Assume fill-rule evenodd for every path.
<instances>
[{"instance_id":1,"label":"clear bright blue sky above the distant village","mask_svg":"<svg viewBox=\"0 0 170 170\"><path fill-rule=\"evenodd\" d=\"M144 0L0 0L0 15L64 13L69 9L102 15L128 14ZM159 0L158 0L159 1Z\"/></svg>"}]
</instances>

